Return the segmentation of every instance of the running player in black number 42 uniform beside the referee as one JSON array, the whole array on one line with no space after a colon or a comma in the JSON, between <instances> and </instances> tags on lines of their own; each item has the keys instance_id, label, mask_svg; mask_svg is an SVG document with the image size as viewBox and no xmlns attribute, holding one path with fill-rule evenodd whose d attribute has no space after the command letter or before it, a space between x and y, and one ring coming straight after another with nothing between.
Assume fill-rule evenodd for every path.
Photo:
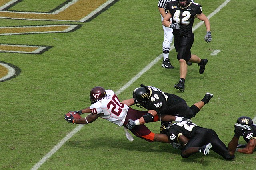
<instances>
[{"instance_id":1,"label":"running player in black number 42 uniform beside the referee","mask_svg":"<svg viewBox=\"0 0 256 170\"><path fill-rule=\"evenodd\" d=\"M194 19L198 18L204 21L207 30L204 40L208 43L212 40L210 21L202 13L202 6L191 2L191 0L170 1L166 4L165 9L168 13L164 16L162 24L173 29L174 47L180 62L180 80L178 84L174 84L174 88L184 92L188 69L186 62L198 63L200 74L204 73L208 62L207 59L200 59L197 55L191 54L190 51L194 43L194 33L192 33ZM170 23L170 18L172 18L172 23Z\"/></svg>"}]
</instances>

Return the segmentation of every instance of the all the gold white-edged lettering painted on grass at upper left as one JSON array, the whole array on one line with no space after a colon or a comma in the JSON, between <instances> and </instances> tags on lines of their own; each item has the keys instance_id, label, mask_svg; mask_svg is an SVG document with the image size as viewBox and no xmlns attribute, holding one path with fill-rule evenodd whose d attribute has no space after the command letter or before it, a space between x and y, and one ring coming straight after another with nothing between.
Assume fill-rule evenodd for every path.
<instances>
[{"instance_id":1,"label":"all the gold white-edged lettering painted on grass at upper left","mask_svg":"<svg viewBox=\"0 0 256 170\"><path fill-rule=\"evenodd\" d=\"M12 7L21 3L22 0L1 0L0 18L10 20L45 20L45 21L67 21L67 22L88 22L108 9L118 0L66 0L56 8L47 12L22 12L14 11ZM37 1L37 3L43 1ZM22 9L20 9L22 10ZM29 23L29 22L28 22ZM45 33L68 33L76 31L81 24L53 24L53 25L17 25L0 27L0 36L22 35L22 34L45 34ZM29 43L29 42L28 42ZM51 49L49 45L31 44L0 44L0 53L25 53L42 54ZM11 69L13 68L13 69ZM9 80L7 75L20 74L17 67L12 64L0 61L0 82ZM19 70L19 69L18 69ZM11 73L12 72L12 73Z\"/></svg>"}]
</instances>

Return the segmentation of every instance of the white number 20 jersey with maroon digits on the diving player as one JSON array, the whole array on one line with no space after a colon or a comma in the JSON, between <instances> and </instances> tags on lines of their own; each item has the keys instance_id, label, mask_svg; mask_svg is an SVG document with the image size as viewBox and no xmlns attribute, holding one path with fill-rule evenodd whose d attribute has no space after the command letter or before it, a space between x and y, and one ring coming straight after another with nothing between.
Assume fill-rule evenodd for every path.
<instances>
[{"instance_id":1,"label":"white number 20 jersey with maroon digits on the diving player","mask_svg":"<svg viewBox=\"0 0 256 170\"><path fill-rule=\"evenodd\" d=\"M106 90L106 94L106 97L90 106L90 111L94 115L103 113L104 115L100 115L101 118L122 126L129 107L126 104L121 104L112 90Z\"/></svg>"}]
</instances>

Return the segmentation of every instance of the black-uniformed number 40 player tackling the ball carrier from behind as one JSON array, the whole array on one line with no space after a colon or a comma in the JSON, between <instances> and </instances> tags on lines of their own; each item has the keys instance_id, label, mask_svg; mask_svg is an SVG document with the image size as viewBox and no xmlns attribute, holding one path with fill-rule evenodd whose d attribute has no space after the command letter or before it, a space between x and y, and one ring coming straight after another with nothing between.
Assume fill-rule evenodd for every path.
<instances>
[{"instance_id":1,"label":"black-uniformed number 40 player tackling the ball carrier from behind","mask_svg":"<svg viewBox=\"0 0 256 170\"><path fill-rule=\"evenodd\" d=\"M135 121L128 120L128 129L132 129L135 125L153 122L157 114L174 115L190 119L213 97L213 94L206 93L201 101L189 107L184 99L175 94L164 93L162 90L153 86L145 86L143 84L140 86L133 91L132 99L127 99L123 102L128 106L136 104L138 107L144 107L148 110L148 113ZM179 118L176 121L182 120Z\"/></svg>"}]
</instances>

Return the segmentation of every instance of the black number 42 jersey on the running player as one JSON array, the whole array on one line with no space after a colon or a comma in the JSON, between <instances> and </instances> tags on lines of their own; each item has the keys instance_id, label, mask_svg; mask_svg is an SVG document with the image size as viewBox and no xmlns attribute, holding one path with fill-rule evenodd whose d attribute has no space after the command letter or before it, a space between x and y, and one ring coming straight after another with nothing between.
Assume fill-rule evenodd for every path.
<instances>
[{"instance_id":1,"label":"black number 42 jersey on the running player","mask_svg":"<svg viewBox=\"0 0 256 170\"><path fill-rule=\"evenodd\" d=\"M177 1L170 1L166 4L165 9L172 14L172 23L180 24L180 29L173 30L173 35L178 36L191 33L196 15L202 13L202 6L195 2L186 8L181 8Z\"/></svg>"}]
</instances>

